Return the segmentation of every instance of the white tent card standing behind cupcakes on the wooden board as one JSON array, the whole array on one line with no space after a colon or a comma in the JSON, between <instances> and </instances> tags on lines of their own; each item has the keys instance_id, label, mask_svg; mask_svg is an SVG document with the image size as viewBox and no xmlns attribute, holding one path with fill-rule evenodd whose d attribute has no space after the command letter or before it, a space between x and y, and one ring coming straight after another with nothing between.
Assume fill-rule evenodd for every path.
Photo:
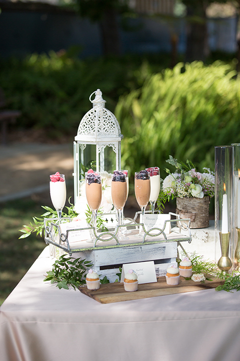
<instances>
[{"instance_id":1,"label":"white tent card standing behind cupcakes on the wooden board","mask_svg":"<svg viewBox=\"0 0 240 361\"><path fill-rule=\"evenodd\" d=\"M123 282L125 274L130 269L136 273L138 284L156 282L154 261L123 264L120 282Z\"/></svg>"}]
</instances>

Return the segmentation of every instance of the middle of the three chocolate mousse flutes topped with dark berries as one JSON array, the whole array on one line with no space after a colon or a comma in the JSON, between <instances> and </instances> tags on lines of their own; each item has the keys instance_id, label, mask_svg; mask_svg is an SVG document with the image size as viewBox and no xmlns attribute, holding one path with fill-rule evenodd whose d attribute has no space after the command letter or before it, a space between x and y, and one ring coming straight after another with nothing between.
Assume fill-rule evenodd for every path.
<instances>
[{"instance_id":1,"label":"middle of the three chocolate mousse flutes topped with dark berries","mask_svg":"<svg viewBox=\"0 0 240 361\"><path fill-rule=\"evenodd\" d=\"M118 226L122 225L122 210L127 198L126 174L120 170L114 170L111 179L111 198L117 214ZM123 238L120 231L120 239Z\"/></svg>"}]
</instances>

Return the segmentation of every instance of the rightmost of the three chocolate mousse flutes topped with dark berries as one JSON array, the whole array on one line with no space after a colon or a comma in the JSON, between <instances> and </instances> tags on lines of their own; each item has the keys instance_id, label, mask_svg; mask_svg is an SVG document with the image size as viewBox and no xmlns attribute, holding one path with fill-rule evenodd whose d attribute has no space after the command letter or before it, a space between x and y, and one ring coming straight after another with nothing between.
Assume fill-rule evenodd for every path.
<instances>
[{"instance_id":1,"label":"rightmost of the three chocolate mousse flutes topped with dark berries","mask_svg":"<svg viewBox=\"0 0 240 361\"><path fill-rule=\"evenodd\" d=\"M141 209L142 223L144 223L144 213L150 198L150 189L149 172L146 169L135 172L135 197ZM142 227L139 228L139 234L143 234Z\"/></svg>"}]
</instances>

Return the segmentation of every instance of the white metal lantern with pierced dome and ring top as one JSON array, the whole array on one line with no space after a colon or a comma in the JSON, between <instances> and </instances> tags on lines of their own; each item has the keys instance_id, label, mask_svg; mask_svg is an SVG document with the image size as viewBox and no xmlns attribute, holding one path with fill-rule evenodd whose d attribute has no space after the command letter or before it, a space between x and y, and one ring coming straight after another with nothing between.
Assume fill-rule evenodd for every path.
<instances>
[{"instance_id":1,"label":"white metal lantern with pierced dome and ring top","mask_svg":"<svg viewBox=\"0 0 240 361\"><path fill-rule=\"evenodd\" d=\"M95 98L91 100L92 95ZM81 119L74 145L74 202L79 196L79 180L82 179L81 165L90 167L95 162L96 171L113 172L121 165L121 134L120 126L114 114L105 108L100 89L93 92L89 100L90 109Z\"/></svg>"}]
</instances>

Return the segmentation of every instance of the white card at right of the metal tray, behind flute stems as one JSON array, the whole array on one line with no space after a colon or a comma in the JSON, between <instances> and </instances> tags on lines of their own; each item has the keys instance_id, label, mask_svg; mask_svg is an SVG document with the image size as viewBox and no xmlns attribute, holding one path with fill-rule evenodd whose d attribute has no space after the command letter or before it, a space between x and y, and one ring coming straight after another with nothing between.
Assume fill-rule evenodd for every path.
<instances>
[{"instance_id":1,"label":"white card at right of the metal tray, behind flute stems","mask_svg":"<svg viewBox=\"0 0 240 361\"><path fill-rule=\"evenodd\" d=\"M140 223L141 222L141 215L140 215ZM171 216L169 214L148 214L145 213L144 215L144 226L145 229L148 231L151 228L159 228L159 229L163 229L164 226L164 221L168 221L171 219ZM166 222L166 227L164 229L164 233L165 234L169 234L171 231L171 223L170 222ZM151 234L157 234L158 231L152 231Z\"/></svg>"}]
</instances>

